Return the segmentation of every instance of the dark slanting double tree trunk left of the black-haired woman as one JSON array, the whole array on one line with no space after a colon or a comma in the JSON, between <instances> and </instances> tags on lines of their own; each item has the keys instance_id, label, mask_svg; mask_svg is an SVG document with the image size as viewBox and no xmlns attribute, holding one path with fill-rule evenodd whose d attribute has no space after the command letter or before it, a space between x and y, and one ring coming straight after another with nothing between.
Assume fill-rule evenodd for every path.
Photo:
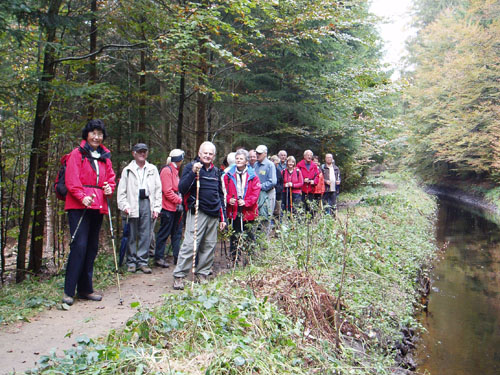
<instances>
[{"instance_id":1,"label":"dark slanting double tree trunk left of the black-haired woman","mask_svg":"<svg viewBox=\"0 0 500 375\"><path fill-rule=\"evenodd\" d=\"M38 179L38 181L41 182L41 186L37 186L37 194L41 194L41 196L37 196L37 202L35 203L35 225L33 226L34 229L32 233L34 237L32 237L32 256L30 256L30 258L33 258L32 269L35 272L38 272L40 270L42 261L41 258L38 259L37 257L42 253L41 250L43 250L44 216L41 217L41 215L45 214L45 205L43 204L43 202L45 201L47 149L51 125L49 111L52 102L52 89L50 87L50 82L54 78L56 67L56 64L54 63L56 50L53 44L56 42L57 25L54 23L54 19L59 13L61 2L62 0L53 0L50 2L49 9L47 11L47 19L51 20L51 22L47 22L43 26L47 40L43 57L42 76L39 79L35 121L33 124L33 140L31 142L31 154L29 162L30 166L28 178L26 181L26 192L24 196L23 219L21 222L18 238L18 252L16 262L16 282L18 283L23 281L25 278L26 248L28 242L28 231L31 221L31 209L33 208L33 190L35 187L35 179ZM39 233L42 233L42 240L40 241L39 238L37 242L36 236Z\"/></svg>"}]
</instances>

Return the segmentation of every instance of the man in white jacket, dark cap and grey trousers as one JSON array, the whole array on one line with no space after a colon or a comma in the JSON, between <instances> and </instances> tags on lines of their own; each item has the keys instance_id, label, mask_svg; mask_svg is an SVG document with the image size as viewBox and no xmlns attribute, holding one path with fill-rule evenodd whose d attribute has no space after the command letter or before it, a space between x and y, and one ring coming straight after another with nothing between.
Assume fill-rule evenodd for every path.
<instances>
[{"instance_id":1,"label":"man in white jacket, dark cap and grey trousers","mask_svg":"<svg viewBox=\"0 0 500 375\"><path fill-rule=\"evenodd\" d=\"M130 225L127 270L151 273L148 266L151 219L156 219L161 211L161 181L156 166L146 160L146 144L136 144L132 156L134 160L123 169L117 189L118 209Z\"/></svg>"}]
</instances>

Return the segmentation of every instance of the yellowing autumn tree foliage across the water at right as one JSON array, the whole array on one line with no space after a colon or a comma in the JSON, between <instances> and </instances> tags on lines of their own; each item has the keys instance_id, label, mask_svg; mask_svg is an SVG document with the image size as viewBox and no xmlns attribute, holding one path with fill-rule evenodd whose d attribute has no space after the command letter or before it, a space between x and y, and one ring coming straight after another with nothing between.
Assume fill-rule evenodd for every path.
<instances>
[{"instance_id":1,"label":"yellowing autumn tree foliage across the water at right","mask_svg":"<svg viewBox=\"0 0 500 375\"><path fill-rule=\"evenodd\" d=\"M498 61L500 7L467 1L421 30L408 88L412 164L427 178L500 181Z\"/></svg>"}]
</instances>

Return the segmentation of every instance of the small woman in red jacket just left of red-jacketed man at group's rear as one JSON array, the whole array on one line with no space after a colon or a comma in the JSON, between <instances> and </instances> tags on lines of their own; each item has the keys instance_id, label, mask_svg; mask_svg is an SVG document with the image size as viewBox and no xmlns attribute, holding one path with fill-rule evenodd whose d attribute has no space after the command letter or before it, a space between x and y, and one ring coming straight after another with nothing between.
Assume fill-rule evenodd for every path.
<instances>
[{"instance_id":1,"label":"small woman in red jacket just left of red-jacketed man at group's rear","mask_svg":"<svg viewBox=\"0 0 500 375\"><path fill-rule=\"evenodd\" d=\"M283 193L281 195L281 211L295 212L302 201L302 185L304 178L300 169L295 167L296 161L293 156L286 159L286 169L281 171L283 176Z\"/></svg>"}]
</instances>

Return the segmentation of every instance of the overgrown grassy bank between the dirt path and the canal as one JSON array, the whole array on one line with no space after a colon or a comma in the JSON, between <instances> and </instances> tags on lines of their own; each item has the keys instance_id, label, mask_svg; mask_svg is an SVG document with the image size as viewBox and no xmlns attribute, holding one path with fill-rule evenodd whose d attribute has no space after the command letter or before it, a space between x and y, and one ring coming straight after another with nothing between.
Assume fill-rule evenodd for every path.
<instances>
[{"instance_id":1,"label":"overgrown grassy bank between the dirt path and the canal","mask_svg":"<svg viewBox=\"0 0 500 375\"><path fill-rule=\"evenodd\" d=\"M386 176L387 177L387 176ZM33 373L390 374L416 327L421 266L432 258L434 200L389 176L344 195L337 220L288 222L244 269L166 295L123 331L41 359Z\"/></svg>"}]
</instances>

